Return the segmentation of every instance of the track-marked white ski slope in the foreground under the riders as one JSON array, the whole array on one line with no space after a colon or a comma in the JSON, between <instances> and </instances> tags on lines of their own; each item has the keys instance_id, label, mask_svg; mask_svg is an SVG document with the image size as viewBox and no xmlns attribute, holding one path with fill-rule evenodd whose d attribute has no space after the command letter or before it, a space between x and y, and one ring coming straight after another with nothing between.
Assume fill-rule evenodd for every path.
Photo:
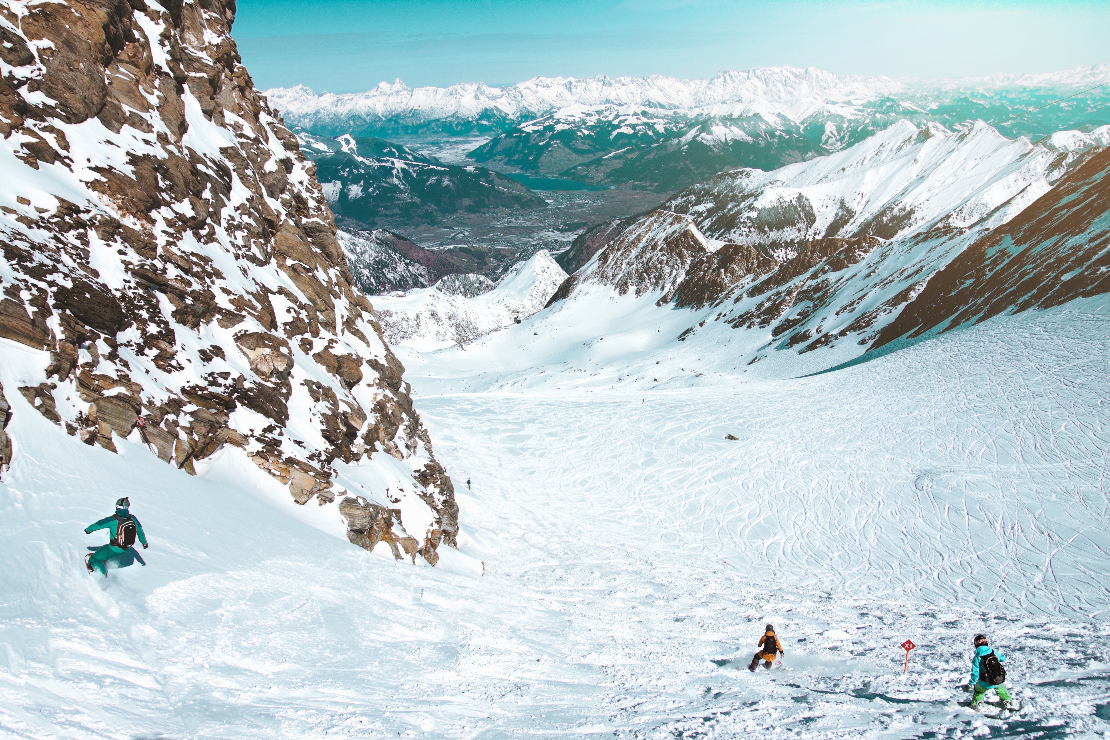
<instances>
[{"instance_id":1,"label":"track-marked white ski slope in the foreground under the riders","mask_svg":"<svg viewBox=\"0 0 1110 740\"><path fill-rule=\"evenodd\" d=\"M435 569L9 392L0 738L1107 737L1108 332L1076 302L807 378L418 396L461 505ZM128 494L150 565L89 578ZM766 621L785 667L749 673ZM957 706L977 631L1023 713Z\"/></svg>"}]
</instances>

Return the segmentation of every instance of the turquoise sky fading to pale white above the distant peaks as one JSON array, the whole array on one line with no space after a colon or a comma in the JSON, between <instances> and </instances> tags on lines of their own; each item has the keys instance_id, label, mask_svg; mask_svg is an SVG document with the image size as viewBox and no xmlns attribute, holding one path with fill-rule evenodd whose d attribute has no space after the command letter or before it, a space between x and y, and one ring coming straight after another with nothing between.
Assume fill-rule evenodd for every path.
<instances>
[{"instance_id":1,"label":"turquoise sky fading to pale white above the distant peaks","mask_svg":"<svg viewBox=\"0 0 1110 740\"><path fill-rule=\"evenodd\" d=\"M962 77L1110 62L1110 2L240 0L233 34L260 88L317 92L776 64Z\"/></svg>"}]
</instances>

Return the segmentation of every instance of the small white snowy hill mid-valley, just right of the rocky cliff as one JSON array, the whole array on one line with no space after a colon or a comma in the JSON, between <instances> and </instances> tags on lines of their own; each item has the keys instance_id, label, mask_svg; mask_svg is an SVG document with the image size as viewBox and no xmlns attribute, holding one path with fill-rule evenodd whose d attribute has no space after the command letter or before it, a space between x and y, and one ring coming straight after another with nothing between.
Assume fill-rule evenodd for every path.
<instances>
[{"instance_id":1,"label":"small white snowy hill mid-valley, just right of the rocky cliff","mask_svg":"<svg viewBox=\"0 0 1110 740\"><path fill-rule=\"evenodd\" d=\"M566 280L547 250L518 262L495 285L482 275L450 275L434 286L374 298L391 345L432 351L470 342L539 311Z\"/></svg>"}]
</instances>

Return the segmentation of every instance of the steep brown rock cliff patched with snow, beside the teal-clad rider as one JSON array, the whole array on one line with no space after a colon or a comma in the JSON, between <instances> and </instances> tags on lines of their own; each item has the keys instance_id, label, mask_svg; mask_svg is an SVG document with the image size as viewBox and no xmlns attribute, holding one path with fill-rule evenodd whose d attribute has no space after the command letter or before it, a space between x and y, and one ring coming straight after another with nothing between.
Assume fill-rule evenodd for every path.
<instances>
[{"instance_id":1,"label":"steep brown rock cliff patched with snow, beside the teal-clad rider","mask_svg":"<svg viewBox=\"0 0 1110 740\"><path fill-rule=\"evenodd\" d=\"M241 448L321 505L346 495L336 465L389 459L433 524L395 516L380 539L434 562L455 541L451 479L311 163L241 63L234 9L0 6L0 178L19 191L0 196L0 342L43 353L20 395L90 445L130 436L186 473Z\"/></svg>"}]
</instances>

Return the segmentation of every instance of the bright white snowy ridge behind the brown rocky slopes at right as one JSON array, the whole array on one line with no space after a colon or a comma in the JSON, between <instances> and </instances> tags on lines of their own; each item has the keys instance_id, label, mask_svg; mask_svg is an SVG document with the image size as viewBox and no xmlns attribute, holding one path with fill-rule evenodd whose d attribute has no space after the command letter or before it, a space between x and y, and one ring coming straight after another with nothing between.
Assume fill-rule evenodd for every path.
<instances>
[{"instance_id":1,"label":"bright white snowy ridge behind the brown rocky slopes at right","mask_svg":"<svg viewBox=\"0 0 1110 740\"><path fill-rule=\"evenodd\" d=\"M829 156L720 174L665 207L690 215L714 239L789 259L796 245L815 239L894 240L1005 223L1108 144L1110 125L1030 143L983 123L951 132L901 121Z\"/></svg>"}]
</instances>

